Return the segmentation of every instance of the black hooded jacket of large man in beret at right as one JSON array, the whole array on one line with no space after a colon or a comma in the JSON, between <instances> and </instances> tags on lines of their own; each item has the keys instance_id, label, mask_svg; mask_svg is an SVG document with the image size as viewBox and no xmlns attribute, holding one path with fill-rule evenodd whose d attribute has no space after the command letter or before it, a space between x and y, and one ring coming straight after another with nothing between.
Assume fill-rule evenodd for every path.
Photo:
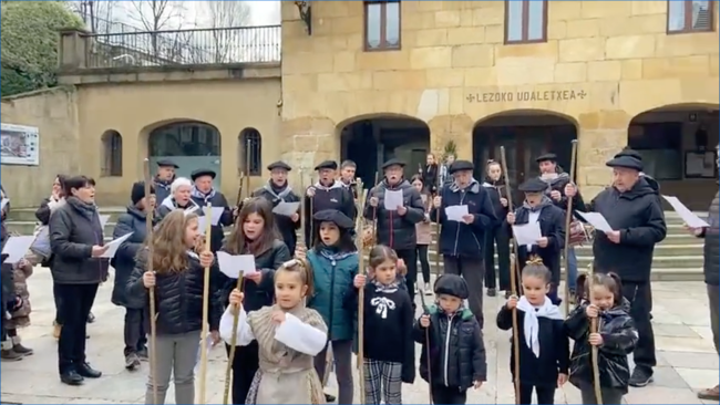
<instances>
[{"instance_id":1,"label":"black hooded jacket of large man in beret at right","mask_svg":"<svg viewBox=\"0 0 720 405\"><path fill-rule=\"evenodd\" d=\"M605 232L595 231L596 271L614 271L623 281L650 281L655 245L667 235L658 190L651 183L641 176L625 193L608 187L593 199L587 210L601 214L613 229L620 231L619 243L611 242Z\"/></svg>"}]
</instances>

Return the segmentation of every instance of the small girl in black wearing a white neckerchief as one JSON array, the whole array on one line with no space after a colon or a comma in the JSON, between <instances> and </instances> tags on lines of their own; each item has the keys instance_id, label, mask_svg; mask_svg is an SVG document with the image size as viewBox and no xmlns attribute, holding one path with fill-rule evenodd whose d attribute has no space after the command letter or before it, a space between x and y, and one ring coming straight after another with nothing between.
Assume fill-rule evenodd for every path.
<instances>
[{"instance_id":1,"label":"small girl in black wearing a white neckerchief","mask_svg":"<svg viewBox=\"0 0 720 405\"><path fill-rule=\"evenodd\" d=\"M538 404L554 404L555 388L567 382L569 342L563 330L563 314L547 297L551 272L537 258L522 271L524 294L511 295L497 312L497 328L513 329L513 311L517 312L521 329L513 339L510 370L513 378L520 378L518 404L532 404L533 391ZM520 375L515 375L515 347L517 339Z\"/></svg>"}]
</instances>

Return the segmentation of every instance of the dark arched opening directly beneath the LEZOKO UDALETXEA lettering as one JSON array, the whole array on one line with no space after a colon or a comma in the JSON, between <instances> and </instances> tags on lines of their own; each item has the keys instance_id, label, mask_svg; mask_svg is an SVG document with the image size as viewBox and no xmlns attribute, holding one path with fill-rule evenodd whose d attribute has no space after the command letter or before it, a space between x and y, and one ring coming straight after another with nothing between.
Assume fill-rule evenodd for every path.
<instances>
[{"instance_id":1,"label":"dark arched opening directly beneath the LEZOKO UDALETXEA lettering","mask_svg":"<svg viewBox=\"0 0 720 405\"><path fill-rule=\"evenodd\" d=\"M475 124L473 128L473 160L475 178L485 178L488 159L500 160L500 147L505 147L510 186L538 176L535 159L543 154L557 155L557 164L569 172L572 142L577 138L577 125L569 117L545 111L518 110L504 112ZM514 196L520 201L521 196Z\"/></svg>"}]
</instances>

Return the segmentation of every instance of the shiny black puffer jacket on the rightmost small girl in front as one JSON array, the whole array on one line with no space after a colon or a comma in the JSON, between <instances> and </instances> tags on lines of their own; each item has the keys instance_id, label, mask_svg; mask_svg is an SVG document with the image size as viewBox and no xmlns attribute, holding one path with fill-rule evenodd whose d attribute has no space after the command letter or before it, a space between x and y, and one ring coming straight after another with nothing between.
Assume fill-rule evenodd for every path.
<instances>
[{"instance_id":1,"label":"shiny black puffer jacket on the rightmost small girl in front","mask_svg":"<svg viewBox=\"0 0 720 405\"><path fill-rule=\"evenodd\" d=\"M593 365L588 336L590 323L585 311L587 302L578 305L565 320L565 332L575 341L570 355L570 383L579 387L593 384ZM638 341L638 332L628 314L630 303L623 299L623 304L600 313L598 331L603 335L597 362L600 370L603 388L628 391L630 367L627 355L632 352Z\"/></svg>"}]
</instances>

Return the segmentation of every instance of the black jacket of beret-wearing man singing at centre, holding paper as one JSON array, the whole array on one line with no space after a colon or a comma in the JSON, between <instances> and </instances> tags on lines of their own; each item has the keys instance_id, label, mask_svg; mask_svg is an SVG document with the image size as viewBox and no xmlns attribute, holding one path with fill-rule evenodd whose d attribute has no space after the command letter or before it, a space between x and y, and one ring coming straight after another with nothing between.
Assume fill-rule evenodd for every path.
<instances>
[{"instance_id":1,"label":"black jacket of beret-wearing man singing at centre, holding paper","mask_svg":"<svg viewBox=\"0 0 720 405\"><path fill-rule=\"evenodd\" d=\"M402 179L395 186L390 186L388 180L382 180L370 190L366 202L363 216L368 220L377 219L378 243L389 246L395 250L414 249L418 246L415 224L425 219L425 207L422 197L412 185ZM389 211L384 207L387 190L402 190L402 204L408 212L401 216L397 210ZM378 198L378 207L370 205L370 197ZM374 217L374 218L373 218Z\"/></svg>"}]
</instances>

